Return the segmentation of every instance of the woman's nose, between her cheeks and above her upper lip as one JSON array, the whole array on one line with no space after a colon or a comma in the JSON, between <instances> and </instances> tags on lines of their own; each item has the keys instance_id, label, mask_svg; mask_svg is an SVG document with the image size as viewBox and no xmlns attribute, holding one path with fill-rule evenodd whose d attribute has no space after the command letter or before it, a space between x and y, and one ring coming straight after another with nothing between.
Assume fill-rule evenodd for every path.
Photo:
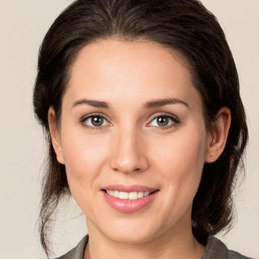
<instances>
[{"instance_id":1,"label":"woman's nose, between her cheeks and above her upper lip","mask_svg":"<svg viewBox=\"0 0 259 259\"><path fill-rule=\"evenodd\" d=\"M121 130L116 133L112 145L110 166L113 170L129 174L148 168L149 163L141 133L134 129Z\"/></svg>"}]
</instances>

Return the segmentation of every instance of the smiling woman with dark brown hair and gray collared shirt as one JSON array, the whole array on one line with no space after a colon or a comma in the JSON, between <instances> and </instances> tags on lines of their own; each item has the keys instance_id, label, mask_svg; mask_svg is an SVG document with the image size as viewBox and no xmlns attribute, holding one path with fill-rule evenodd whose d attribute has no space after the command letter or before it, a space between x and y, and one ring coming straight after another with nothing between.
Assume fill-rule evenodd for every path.
<instances>
[{"instance_id":1,"label":"smiling woman with dark brown hair and gray collared shirt","mask_svg":"<svg viewBox=\"0 0 259 259\"><path fill-rule=\"evenodd\" d=\"M246 258L212 235L232 219L247 142L238 75L195 0L79 0L40 48L34 109L49 136L40 212L65 195L89 236L60 258Z\"/></svg>"}]
</instances>

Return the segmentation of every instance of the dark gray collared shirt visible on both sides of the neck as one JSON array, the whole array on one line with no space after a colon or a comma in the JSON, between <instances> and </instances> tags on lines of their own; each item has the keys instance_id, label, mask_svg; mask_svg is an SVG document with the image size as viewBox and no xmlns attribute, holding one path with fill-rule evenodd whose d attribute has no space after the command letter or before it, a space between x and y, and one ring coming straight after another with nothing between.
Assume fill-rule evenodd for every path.
<instances>
[{"instance_id":1,"label":"dark gray collared shirt visible on both sides of the neck","mask_svg":"<svg viewBox=\"0 0 259 259\"><path fill-rule=\"evenodd\" d=\"M76 247L56 259L83 259L84 249L87 246L89 236L86 235ZM229 250L219 239L209 236L205 252L201 259L249 259L238 252ZM251 258L250 258L251 259Z\"/></svg>"}]
</instances>

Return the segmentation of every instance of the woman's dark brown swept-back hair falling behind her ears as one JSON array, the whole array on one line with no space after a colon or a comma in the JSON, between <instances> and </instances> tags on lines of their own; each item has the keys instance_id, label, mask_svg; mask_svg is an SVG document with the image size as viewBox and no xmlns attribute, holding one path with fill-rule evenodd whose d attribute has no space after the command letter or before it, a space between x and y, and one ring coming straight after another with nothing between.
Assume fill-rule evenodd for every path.
<instances>
[{"instance_id":1,"label":"woman's dark brown swept-back hair falling behind her ears","mask_svg":"<svg viewBox=\"0 0 259 259\"><path fill-rule=\"evenodd\" d=\"M42 246L48 254L52 216L60 199L70 195L65 166L58 163L51 143L48 110L54 107L58 122L76 55L90 42L109 38L142 39L180 52L202 97L208 129L221 107L231 110L226 147L217 161L204 164L193 201L193 234L205 244L209 234L230 226L231 193L248 138L236 66L217 18L196 0L77 0L52 24L38 56L33 104L49 143L39 216Z\"/></svg>"}]
</instances>

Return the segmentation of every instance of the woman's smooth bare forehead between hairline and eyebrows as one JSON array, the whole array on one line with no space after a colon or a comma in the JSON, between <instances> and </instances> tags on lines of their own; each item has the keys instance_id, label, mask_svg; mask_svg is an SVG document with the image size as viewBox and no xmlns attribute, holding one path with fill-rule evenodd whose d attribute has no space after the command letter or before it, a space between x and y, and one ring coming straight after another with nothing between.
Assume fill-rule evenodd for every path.
<instances>
[{"instance_id":1,"label":"woman's smooth bare forehead between hairline and eyebrows","mask_svg":"<svg viewBox=\"0 0 259 259\"><path fill-rule=\"evenodd\" d=\"M187 60L146 41L103 40L83 47L72 65L67 93L71 102L194 97L200 102Z\"/></svg>"}]
</instances>

